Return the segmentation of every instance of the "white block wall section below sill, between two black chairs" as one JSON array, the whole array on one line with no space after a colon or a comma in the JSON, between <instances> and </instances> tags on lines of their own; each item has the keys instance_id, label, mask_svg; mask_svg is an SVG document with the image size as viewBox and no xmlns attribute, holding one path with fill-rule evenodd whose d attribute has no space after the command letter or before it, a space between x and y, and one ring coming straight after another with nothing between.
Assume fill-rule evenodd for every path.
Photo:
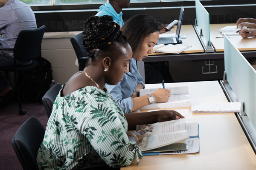
<instances>
[{"instance_id":1,"label":"white block wall section below sill, between two black chairs","mask_svg":"<svg viewBox=\"0 0 256 170\"><path fill-rule=\"evenodd\" d=\"M70 42L70 37L79 34L75 32L45 33L42 41L42 57L52 64L52 76L55 83L64 84L78 69L76 53Z\"/></svg>"}]
</instances>

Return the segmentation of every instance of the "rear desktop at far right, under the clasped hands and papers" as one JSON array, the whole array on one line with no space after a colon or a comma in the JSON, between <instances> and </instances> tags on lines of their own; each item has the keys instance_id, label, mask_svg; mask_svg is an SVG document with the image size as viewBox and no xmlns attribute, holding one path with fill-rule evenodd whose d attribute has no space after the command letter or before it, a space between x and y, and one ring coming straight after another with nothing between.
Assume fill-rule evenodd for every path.
<instances>
[{"instance_id":1,"label":"rear desktop at far right, under the clasped hands and papers","mask_svg":"<svg viewBox=\"0 0 256 170\"><path fill-rule=\"evenodd\" d=\"M224 38L216 38L220 35L219 29L225 26L235 26L233 24L210 24L210 40L216 52L224 51ZM249 38L230 38L230 41L239 51L256 50L256 37Z\"/></svg>"}]
</instances>

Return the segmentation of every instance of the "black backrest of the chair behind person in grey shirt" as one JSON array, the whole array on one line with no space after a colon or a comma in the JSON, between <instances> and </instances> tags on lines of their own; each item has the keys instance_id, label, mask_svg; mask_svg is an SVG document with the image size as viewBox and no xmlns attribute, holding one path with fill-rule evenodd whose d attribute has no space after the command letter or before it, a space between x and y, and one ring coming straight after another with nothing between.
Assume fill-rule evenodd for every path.
<instances>
[{"instance_id":1,"label":"black backrest of the chair behind person in grey shirt","mask_svg":"<svg viewBox=\"0 0 256 170\"><path fill-rule=\"evenodd\" d=\"M31 60L40 57L44 31L45 26L20 31L14 46L14 57L18 60Z\"/></svg>"}]
</instances>

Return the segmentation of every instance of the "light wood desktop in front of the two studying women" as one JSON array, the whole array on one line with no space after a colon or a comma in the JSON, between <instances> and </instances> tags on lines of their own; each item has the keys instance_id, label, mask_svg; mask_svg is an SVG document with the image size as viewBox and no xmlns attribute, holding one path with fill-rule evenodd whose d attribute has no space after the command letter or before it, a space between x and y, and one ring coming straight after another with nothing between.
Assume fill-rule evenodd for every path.
<instances>
[{"instance_id":1,"label":"light wood desktop in front of the two studying women","mask_svg":"<svg viewBox=\"0 0 256 170\"><path fill-rule=\"evenodd\" d=\"M227 102L217 81L166 83L171 86L188 85L192 107L196 102ZM147 85L146 87L152 87ZM185 109L185 108L180 108ZM198 122L200 152L180 155L143 156L121 170L253 170L253 152L234 113L191 113L186 122Z\"/></svg>"}]
</instances>

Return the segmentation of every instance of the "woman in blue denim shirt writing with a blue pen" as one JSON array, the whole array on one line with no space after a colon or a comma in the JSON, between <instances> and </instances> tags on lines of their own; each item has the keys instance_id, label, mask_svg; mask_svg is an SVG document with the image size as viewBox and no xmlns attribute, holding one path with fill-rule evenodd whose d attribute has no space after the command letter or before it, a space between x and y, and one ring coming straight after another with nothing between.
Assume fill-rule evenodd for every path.
<instances>
[{"instance_id":1,"label":"woman in blue denim shirt writing with a blue pen","mask_svg":"<svg viewBox=\"0 0 256 170\"><path fill-rule=\"evenodd\" d=\"M136 60L141 61L153 52L153 47L159 38L161 24L153 17L145 14L135 15L122 26L123 33L131 45L133 55L128 72L122 82L117 85L106 85L111 96L125 113L131 113L154 102L167 102L171 91L159 89L151 94L140 96L140 89L145 88L143 77L140 75Z\"/></svg>"}]
</instances>

